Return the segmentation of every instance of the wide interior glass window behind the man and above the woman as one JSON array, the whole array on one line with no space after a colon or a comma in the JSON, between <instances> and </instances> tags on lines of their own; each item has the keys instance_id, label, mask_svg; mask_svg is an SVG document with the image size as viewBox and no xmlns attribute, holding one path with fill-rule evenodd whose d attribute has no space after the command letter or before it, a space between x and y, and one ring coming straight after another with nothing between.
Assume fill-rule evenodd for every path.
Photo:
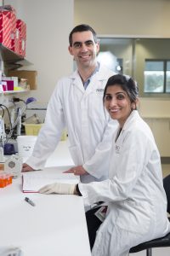
<instances>
[{"instance_id":1,"label":"wide interior glass window behind the man and above the woman","mask_svg":"<svg viewBox=\"0 0 170 256\"><path fill-rule=\"evenodd\" d=\"M107 53L107 54L106 54ZM106 54L106 55L105 55ZM139 96L169 97L169 38L102 38L99 57L116 73L132 76L139 84Z\"/></svg>"}]
</instances>

